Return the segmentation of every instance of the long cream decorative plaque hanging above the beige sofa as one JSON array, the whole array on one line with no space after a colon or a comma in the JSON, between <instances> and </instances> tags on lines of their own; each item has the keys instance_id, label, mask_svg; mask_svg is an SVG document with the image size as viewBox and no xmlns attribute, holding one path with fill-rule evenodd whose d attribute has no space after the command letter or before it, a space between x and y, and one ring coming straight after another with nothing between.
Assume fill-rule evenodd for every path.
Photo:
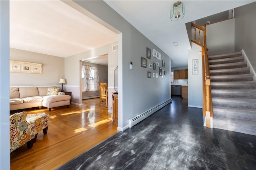
<instances>
[{"instance_id":1,"label":"long cream decorative plaque hanging above the beige sofa","mask_svg":"<svg viewBox=\"0 0 256 170\"><path fill-rule=\"evenodd\" d=\"M10 72L42 74L42 64L10 60Z\"/></svg>"}]
</instances>

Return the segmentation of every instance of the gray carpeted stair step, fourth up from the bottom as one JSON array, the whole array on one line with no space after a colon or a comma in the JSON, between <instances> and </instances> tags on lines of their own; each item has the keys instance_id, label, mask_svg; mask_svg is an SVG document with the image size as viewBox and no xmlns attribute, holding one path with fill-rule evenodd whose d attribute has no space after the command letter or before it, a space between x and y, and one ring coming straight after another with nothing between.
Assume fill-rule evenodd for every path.
<instances>
[{"instance_id":1,"label":"gray carpeted stair step, fourth up from the bottom","mask_svg":"<svg viewBox=\"0 0 256 170\"><path fill-rule=\"evenodd\" d=\"M256 99L256 89L212 89L212 97Z\"/></svg>"}]
</instances>

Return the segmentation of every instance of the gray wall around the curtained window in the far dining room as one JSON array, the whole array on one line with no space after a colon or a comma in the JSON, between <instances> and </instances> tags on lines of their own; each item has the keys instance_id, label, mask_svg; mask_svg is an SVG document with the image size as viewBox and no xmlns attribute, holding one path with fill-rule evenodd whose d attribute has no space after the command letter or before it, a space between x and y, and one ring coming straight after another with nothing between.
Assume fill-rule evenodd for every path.
<instances>
[{"instance_id":1,"label":"gray wall around the curtained window in the far dining room","mask_svg":"<svg viewBox=\"0 0 256 170\"><path fill-rule=\"evenodd\" d=\"M88 63L86 61L82 61L82 65L99 67L99 83L108 83L108 66L95 64L95 63ZM99 91L83 91L82 92L82 97L96 96L96 95L100 95L100 92Z\"/></svg>"}]
</instances>

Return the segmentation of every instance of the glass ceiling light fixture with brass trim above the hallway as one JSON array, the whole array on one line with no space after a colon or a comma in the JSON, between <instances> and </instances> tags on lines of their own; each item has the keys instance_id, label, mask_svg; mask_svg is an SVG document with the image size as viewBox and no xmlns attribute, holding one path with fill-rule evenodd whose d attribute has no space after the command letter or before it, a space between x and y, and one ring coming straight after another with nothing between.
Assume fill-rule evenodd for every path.
<instances>
[{"instance_id":1,"label":"glass ceiling light fixture with brass trim above the hallway","mask_svg":"<svg viewBox=\"0 0 256 170\"><path fill-rule=\"evenodd\" d=\"M183 2L176 1L171 8L171 21L178 21L185 16L185 7Z\"/></svg>"}]
</instances>

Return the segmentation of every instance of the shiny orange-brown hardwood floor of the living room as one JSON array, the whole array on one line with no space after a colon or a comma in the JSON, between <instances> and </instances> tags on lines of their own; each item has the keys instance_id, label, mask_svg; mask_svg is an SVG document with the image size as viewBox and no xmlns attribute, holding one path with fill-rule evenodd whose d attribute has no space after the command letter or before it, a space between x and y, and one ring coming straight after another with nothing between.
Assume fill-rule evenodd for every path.
<instances>
[{"instance_id":1,"label":"shiny orange-brown hardwood floor of the living room","mask_svg":"<svg viewBox=\"0 0 256 170\"><path fill-rule=\"evenodd\" d=\"M28 109L28 113L48 113L50 123L46 135L38 133L31 149L26 144L11 152L11 169L55 169L82 154L117 131L112 126L108 108L99 98L83 100L82 106L48 109Z\"/></svg>"}]
</instances>

